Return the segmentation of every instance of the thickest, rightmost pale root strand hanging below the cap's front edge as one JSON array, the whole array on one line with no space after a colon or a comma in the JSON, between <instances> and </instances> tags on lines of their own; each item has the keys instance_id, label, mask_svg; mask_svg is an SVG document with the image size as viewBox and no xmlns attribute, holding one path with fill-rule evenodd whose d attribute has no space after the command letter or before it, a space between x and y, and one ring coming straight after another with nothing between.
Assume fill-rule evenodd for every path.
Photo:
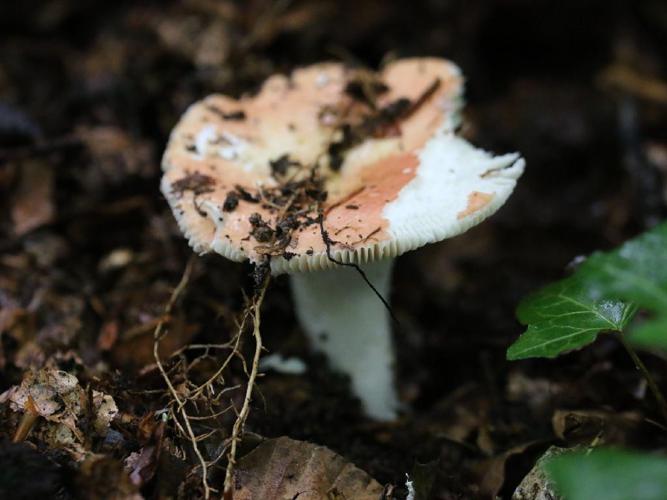
<instances>
[{"instance_id":1,"label":"thickest, rightmost pale root strand hanging below the cap's front edge","mask_svg":"<svg viewBox=\"0 0 667 500\"><path fill-rule=\"evenodd\" d=\"M255 354L252 360L252 368L250 370L250 375L248 376L248 385L246 387L245 398L243 400L243 406L239 412L236 421L234 422L234 427L232 428L231 442L229 447L229 453L227 454L227 470L225 472L225 489L223 498L225 500L232 500L232 490L234 482L234 466L236 465L236 446L240 440L240 436L243 433L243 427L245 421L248 418L248 413L250 412L250 402L252 400L252 391L255 387L255 380L257 379L257 372L259 371L259 357L262 353L262 335L260 331L261 324L261 315L260 310L262 307L262 302L264 301L264 295L266 289L269 287L269 282L271 276L267 275L264 278L264 283L261 288L259 288L255 294L255 299L252 304L252 326L253 326L253 337L255 338Z\"/></svg>"}]
</instances>

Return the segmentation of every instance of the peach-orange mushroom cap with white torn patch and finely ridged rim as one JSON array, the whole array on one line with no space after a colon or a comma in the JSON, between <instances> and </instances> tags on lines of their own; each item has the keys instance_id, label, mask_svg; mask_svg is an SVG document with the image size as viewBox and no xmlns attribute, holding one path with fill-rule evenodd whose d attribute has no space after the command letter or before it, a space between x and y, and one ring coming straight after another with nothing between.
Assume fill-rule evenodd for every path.
<instances>
[{"instance_id":1,"label":"peach-orange mushroom cap with white torn patch and finely ridged rim","mask_svg":"<svg viewBox=\"0 0 667 500\"><path fill-rule=\"evenodd\" d=\"M378 92L376 109L404 98L419 105L347 149L334 168L325 153L340 140L336 120L363 119L372 106L350 95L353 75L341 64L317 64L269 78L254 96L211 95L187 110L162 160L161 189L196 252L262 260L252 216L269 227L284 216L260 196L285 185L272 162L282 161L287 178L320 165L327 194L322 225L313 207L300 214L285 251L271 257L274 274L335 267L327 246L344 263L396 257L460 234L505 203L524 161L494 157L454 135L463 78L442 59L398 60L380 73L388 88Z\"/></svg>"}]
</instances>

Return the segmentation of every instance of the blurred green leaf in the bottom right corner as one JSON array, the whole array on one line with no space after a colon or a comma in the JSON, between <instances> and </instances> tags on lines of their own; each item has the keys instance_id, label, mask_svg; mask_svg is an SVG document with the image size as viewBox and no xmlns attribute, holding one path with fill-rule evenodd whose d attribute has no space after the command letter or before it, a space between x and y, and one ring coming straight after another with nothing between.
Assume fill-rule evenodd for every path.
<instances>
[{"instance_id":1,"label":"blurred green leaf in the bottom right corner","mask_svg":"<svg viewBox=\"0 0 667 500\"><path fill-rule=\"evenodd\" d=\"M667 458L600 449L553 458L546 470L568 500L664 500Z\"/></svg>"}]
</instances>

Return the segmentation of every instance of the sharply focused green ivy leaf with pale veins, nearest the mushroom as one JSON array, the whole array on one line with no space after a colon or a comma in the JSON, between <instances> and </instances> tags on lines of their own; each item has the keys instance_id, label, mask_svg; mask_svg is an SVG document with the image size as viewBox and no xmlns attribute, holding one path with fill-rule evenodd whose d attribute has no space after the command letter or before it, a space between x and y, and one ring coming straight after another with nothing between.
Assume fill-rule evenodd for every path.
<instances>
[{"instance_id":1,"label":"sharply focused green ivy leaf with pale veins, nearest the mushroom","mask_svg":"<svg viewBox=\"0 0 667 500\"><path fill-rule=\"evenodd\" d=\"M577 276L558 281L524 299L519 321L526 332L507 359L553 358L593 342L600 332L622 331L635 308L620 301L593 300Z\"/></svg>"}]
</instances>

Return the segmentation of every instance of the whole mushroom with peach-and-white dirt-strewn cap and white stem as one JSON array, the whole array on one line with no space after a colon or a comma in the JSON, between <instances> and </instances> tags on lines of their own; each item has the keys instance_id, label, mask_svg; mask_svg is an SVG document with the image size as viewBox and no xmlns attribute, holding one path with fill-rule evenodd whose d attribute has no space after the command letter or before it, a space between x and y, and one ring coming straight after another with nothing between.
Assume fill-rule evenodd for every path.
<instances>
[{"instance_id":1,"label":"whole mushroom with peach-and-white dirt-strewn cap and white stem","mask_svg":"<svg viewBox=\"0 0 667 500\"><path fill-rule=\"evenodd\" d=\"M399 406L378 297L391 292L394 258L480 223L523 172L518 154L455 135L462 92L460 70L441 59L378 74L318 64L255 96L192 105L164 154L162 192L190 245L291 274L311 343L376 419Z\"/></svg>"}]
</instances>

